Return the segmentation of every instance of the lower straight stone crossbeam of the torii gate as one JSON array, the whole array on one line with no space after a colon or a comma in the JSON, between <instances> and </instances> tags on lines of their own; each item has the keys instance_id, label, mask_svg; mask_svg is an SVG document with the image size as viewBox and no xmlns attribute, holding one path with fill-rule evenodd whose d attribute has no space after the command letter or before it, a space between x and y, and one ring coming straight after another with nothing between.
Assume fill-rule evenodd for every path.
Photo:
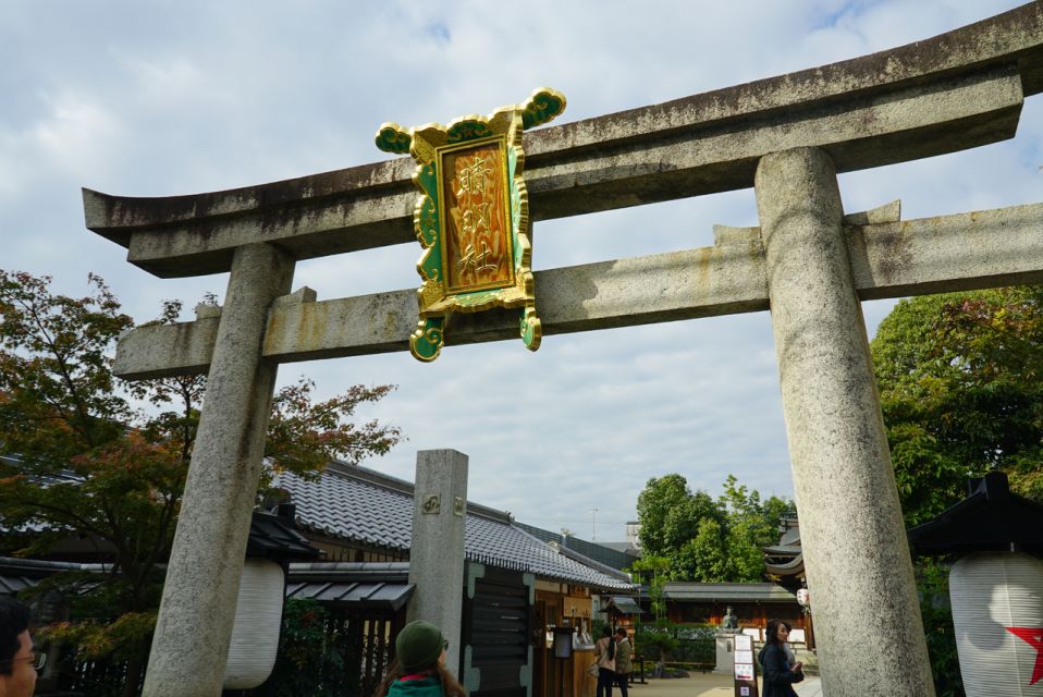
<instances>
[{"instance_id":1,"label":"lower straight stone crossbeam of the torii gate","mask_svg":"<svg viewBox=\"0 0 1043 697\"><path fill-rule=\"evenodd\" d=\"M861 299L1043 282L1043 204L908 221L898 221L896 209L846 218L869 221L846 225ZM722 229L716 237L712 247L537 271L544 334L768 309L760 229ZM286 296L271 309L266 358L290 363L406 351L416 328L415 290L299 298ZM513 315L453 320L451 344L517 333ZM218 322L213 317L135 329L120 340L114 370L135 379L205 372Z\"/></svg>"}]
</instances>

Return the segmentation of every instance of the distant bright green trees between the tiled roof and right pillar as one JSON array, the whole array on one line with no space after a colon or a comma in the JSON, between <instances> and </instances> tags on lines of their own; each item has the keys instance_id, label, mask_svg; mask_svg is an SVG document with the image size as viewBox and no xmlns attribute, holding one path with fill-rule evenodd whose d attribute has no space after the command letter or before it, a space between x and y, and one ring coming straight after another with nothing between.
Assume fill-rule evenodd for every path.
<instances>
[{"instance_id":1,"label":"distant bright green trees between the tiled roof and right pillar","mask_svg":"<svg viewBox=\"0 0 1043 697\"><path fill-rule=\"evenodd\" d=\"M763 580L761 548L778 540L778 519L793 508L777 497L762 502L731 475L717 500L678 474L652 478L637 501L641 546L666 560L663 574L674 580Z\"/></svg>"}]
</instances>

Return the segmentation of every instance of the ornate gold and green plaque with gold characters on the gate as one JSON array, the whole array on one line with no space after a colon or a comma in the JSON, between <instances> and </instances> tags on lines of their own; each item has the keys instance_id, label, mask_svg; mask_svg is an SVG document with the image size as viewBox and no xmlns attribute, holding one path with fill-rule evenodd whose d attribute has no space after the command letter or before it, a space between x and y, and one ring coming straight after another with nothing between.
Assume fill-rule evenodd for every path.
<instances>
[{"instance_id":1,"label":"ornate gold and green plaque with gold characters on the gate","mask_svg":"<svg viewBox=\"0 0 1043 697\"><path fill-rule=\"evenodd\" d=\"M420 320L409 350L420 360L438 357L454 313L493 307L517 308L522 340L531 351L540 347L522 132L564 110L565 96L543 87L524 105L447 126L380 126L378 148L409 152L417 162L413 223L424 252L417 261Z\"/></svg>"}]
</instances>

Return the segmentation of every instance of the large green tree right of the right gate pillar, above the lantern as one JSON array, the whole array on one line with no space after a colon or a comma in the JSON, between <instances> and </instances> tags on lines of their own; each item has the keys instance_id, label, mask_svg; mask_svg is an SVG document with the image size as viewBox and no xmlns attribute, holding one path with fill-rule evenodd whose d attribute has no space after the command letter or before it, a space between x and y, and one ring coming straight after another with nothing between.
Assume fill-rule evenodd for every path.
<instances>
[{"instance_id":1,"label":"large green tree right of the right gate pillar, above the lantern","mask_svg":"<svg viewBox=\"0 0 1043 697\"><path fill-rule=\"evenodd\" d=\"M990 468L1043 500L1043 288L901 301L872 351L907 524Z\"/></svg>"}]
</instances>

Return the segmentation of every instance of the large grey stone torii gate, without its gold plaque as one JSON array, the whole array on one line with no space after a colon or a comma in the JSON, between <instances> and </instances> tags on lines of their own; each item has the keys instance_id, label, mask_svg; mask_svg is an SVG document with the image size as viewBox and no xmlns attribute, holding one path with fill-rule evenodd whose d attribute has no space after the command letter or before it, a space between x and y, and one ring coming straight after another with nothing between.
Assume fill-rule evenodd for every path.
<instances>
[{"instance_id":1,"label":"large grey stone torii gate, without its gold plaque","mask_svg":"<svg viewBox=\"0 0 1043 697\"><path fill-rule=\"evenodd\" d=\"M921 697L931 672L860 301L1043 281L1043 204L844 215L836 173L1014 136L1043 90L1043 5L881 53L525 134L533 220L753 186L711 247L536 272L547 335L770 309L824 693ZM144 327L128 378L209 371L145 693L218 695L280 363L405 351L413 289L317 302L294 262L412 243L408 158L228 192L84 192L159 277L231 271L219 316ZM451 344L514 338L459 316ZM403 359L409 359L403 357Z\"/></svg>"}]
</instances>

